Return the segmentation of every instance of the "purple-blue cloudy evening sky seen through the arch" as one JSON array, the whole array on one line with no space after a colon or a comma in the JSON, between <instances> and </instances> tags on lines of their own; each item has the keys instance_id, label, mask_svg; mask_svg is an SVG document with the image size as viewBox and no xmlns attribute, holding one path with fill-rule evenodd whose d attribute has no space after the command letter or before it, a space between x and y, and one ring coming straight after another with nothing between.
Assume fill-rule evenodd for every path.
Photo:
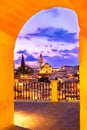
<instances>
[{"instance_id":1,"label":"purple-blue cloudy evening sky seen through the arch","mask_svg":"<svg viewBox=\"0 0 87 130\"><path fill-rule=\"evenodd\" d=\"M20 66L22 54L30 67L43 65L53 68L79 65L79 24L74 11L65 8L42 10L32 16L20 30L14 50L15 68Z\"/></svg>"}]
</instances>

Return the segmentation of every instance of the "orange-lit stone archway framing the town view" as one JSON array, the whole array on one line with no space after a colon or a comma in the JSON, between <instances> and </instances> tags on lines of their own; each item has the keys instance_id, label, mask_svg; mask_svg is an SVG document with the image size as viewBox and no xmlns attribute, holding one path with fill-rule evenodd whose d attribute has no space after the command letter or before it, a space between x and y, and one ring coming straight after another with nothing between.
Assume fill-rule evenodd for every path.
<instances>
[{"instance_id":1,"label":"orange-lit stone archway framing the town view","mask_svg":"<svg viewBox=\"0 0 87 130\"><path fill-rule=\"evenodd\" d=\"M87 117L87 3L86 0L38 0L0 1L0 128L13 124L13 50L16 37L24 23L36 12L51 8L64 7L74 10L80 25L80 123L85 130Z\"/></svg>"}]
</instances>

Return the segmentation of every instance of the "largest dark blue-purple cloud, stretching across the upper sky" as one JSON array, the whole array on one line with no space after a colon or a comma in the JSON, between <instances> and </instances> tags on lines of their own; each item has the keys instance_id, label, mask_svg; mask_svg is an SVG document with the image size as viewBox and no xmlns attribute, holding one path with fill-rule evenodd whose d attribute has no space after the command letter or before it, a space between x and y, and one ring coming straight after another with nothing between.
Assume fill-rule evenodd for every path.
<instances>
[{"instance_id":1,"label":"largest dark blue-purple cloud, stretching across the upper sky","mask_svg":"<svg viewBox=\"0 0 87 130\"><path fill-rule=\"evenodd\" d=\"M63 28L47 27L38 28L34 33L24 34L23 37L25 39L44 38L50 42L76 43L78 42L76 35L76 32L71 33Z\"/></svg>"}]
</instances>

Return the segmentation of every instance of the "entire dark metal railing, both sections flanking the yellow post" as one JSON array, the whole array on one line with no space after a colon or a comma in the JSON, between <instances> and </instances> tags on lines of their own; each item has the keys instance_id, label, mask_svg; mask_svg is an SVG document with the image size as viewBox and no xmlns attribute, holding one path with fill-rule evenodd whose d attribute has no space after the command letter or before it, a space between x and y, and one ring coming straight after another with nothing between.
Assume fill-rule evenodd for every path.
<instances>
[{"instance_id":1,"label":"entire dark metal railing, both sections flanking the yellow post","mask_svg":"<svg viewBox=\"0 0 87 130\"><path fill-rule=\"evenodd\" d=\"M79 100L79 81L58 82L58 100ZM14 99L50 101L52 95L50 82L16 82Z\"/></svg>"}]
</instances>

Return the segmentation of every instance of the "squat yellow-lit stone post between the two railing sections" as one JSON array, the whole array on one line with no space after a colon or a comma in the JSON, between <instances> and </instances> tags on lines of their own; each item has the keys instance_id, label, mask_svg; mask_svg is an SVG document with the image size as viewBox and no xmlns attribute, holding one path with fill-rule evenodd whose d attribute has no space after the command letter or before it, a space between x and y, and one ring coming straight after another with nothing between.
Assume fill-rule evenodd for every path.
<instances>
[{"instance_id":1,"label":"squat yellow-lit stone post between the two railing sections","mask_svg":"<svg viewBox=\"0 0 87 130\"><path fill-rule=\"evenodd\" d=\"M58 102L58 80L51 80L52 97L51 102Z\"/></svg>"}]
</instances>

